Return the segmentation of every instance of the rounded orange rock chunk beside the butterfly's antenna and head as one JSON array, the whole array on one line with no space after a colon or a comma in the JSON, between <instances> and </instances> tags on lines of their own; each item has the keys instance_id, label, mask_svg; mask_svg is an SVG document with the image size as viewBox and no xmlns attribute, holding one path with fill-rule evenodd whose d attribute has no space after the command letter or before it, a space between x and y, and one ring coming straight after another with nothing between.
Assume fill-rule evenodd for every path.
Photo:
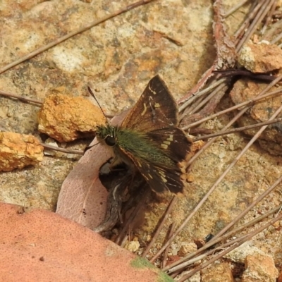
<instances>
[{"instance_id":1,"label":"rounded orange rock chunk beside the butterfly's antenna and head","mask_svg":"<svg viewBox=\"0 0 282 282\"><path fill-rule=\"evenodd\" d=\"M51 94L38 114L38 130L59 142L69 142L94 135L106 118L101 109L82 97Z\"/></svg>"}]
</instances>

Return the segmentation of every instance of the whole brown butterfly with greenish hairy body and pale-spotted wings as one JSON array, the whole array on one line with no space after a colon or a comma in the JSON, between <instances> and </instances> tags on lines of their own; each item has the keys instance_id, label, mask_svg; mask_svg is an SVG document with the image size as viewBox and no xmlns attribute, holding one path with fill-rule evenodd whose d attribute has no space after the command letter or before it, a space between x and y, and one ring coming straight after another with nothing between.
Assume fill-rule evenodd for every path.
<instances>
[{"instance_id":1,"label":"whole brown butterfly with greenish hairy body and pale-spotted wings","mask_svg":"<svg viewBox=\"0 0 282 282\"><path fill-rule=\"evenodd\" d=\"M97 138L114 149L112 165L124 162L140 171L155 192L183 192L178 164L191 142L177 128L177 107L159 75L145 91L120 126L100 125Z\"/></svg>"}]
</instances>

